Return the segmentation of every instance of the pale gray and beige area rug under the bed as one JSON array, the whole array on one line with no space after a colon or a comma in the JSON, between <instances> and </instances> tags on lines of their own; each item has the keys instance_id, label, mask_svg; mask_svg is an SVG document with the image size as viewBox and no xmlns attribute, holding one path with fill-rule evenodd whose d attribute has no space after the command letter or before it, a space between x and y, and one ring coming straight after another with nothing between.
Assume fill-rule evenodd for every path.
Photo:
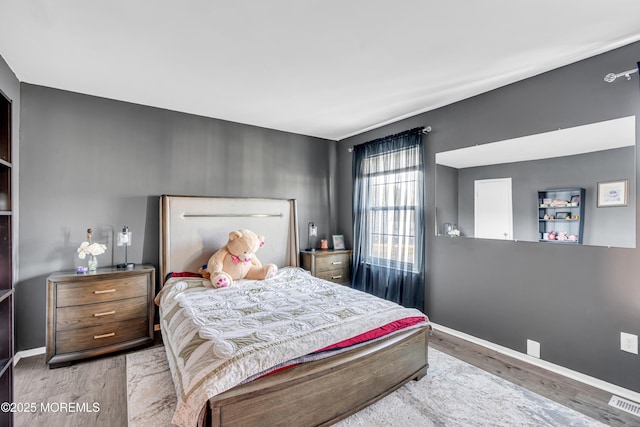
<instances>
[{"instance_id":1,"label":"pale gray and beige area rug under the bed","mask_svg":"<svg viewBox=\"0 0 640 427\"><path fill-rule=\"evenodd\" d=\"M171 426L175 390L164 347L127 355L130 427ZM438 350L429 370L396 392L336 424L380 426L604 426Z\"/></svg>"}]
</instances>

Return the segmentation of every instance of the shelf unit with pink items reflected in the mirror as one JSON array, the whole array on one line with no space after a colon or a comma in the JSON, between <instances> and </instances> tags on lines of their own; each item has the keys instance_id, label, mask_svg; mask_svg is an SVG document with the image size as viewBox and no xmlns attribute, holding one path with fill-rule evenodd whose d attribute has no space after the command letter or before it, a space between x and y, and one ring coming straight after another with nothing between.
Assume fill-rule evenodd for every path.
<instances>
[{"instance_id":1,"label":"shelf unit with pink items reflected in the mirror","mask_svg":"<svg viewBox=\"0 0 640 427\"><path fill-rule=\"evenodd\" d=\"M584 188L538 191L538 240L581 245L584 231Z\"/></svg>"}]
</instances>

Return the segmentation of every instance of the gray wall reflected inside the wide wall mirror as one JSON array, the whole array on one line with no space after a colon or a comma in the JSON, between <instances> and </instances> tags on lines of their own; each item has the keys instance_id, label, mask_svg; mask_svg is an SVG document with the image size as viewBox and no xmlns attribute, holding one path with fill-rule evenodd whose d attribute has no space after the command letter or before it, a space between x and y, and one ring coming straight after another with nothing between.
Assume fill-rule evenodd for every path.
<instances>
[{"instance_id":1,"label":"gray wall reflected inside the wide wall mirror","mask_svg":"<svg viewBox=\"0 0 640 427\"><path fill-rule=\"evenodd\" d=\"M635 247L635 180L630 180L629 205L617 208L596 206L597 183L633 178L635 147L604 150L598 153L556 157L545 160L515 162L459 170L458 219L463 236L474 235L474 181L478 179L512 178L514 240L538 240L539 190L552 188L584 188L585 207L583 244ZM440 209L442 193L448 185L440 179L437 167L436 197ZM446 178L449 180L449 178ZM442 219L439 218L442 222ZM451 221L449 221L451 222ZM454 221L455 222L455 221ZM575 224L577 225L577 224Z\"/></svg>"}]
</instances>

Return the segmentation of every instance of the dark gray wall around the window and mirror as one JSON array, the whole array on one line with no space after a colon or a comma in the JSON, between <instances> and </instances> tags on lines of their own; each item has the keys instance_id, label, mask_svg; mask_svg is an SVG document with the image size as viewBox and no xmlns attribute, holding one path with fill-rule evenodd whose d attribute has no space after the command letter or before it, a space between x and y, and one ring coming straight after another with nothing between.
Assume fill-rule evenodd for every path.
<instances>
[{"instance_id":1,"label":"dark gray wall around the window and mirror","mask_svg":"<svg viewBox=\"0 0 640 427\"><path fill-rule=\"evenodd\" d=\"M352 241L347 148L432 126L424 139L425 309L431 320L522 353L527 339L539 341L542 359L640 391L640 356L619 350L621 331L640 335L640 249L433 237L435 153L640 115L637 76L611 84L603 80L607 73L635 67L639 59L640 44L631 44L340 141L338 226L347 244ZM636 224L637 216L636 209Z\"/></svg>"}]
</instances>

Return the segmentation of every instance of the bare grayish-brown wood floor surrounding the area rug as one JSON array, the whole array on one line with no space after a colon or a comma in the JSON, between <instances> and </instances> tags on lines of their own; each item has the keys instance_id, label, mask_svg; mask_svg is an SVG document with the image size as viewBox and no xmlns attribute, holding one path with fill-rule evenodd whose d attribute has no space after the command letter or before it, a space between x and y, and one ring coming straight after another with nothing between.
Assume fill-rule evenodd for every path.
<instances>
[{"instance_id":1,"label":"bare grayish-brown wood floor surrounding the area rug","mask_svg":"<svg viewBox=\"0 0 640 427\"><path fill-rule=\"evenodd\" d=\"M430 346L582 412L610 426L638 426L640 417L608 405L611 395L462 339L434 331ZM44 355L21 359L14 370L15 401L33 413L15 414L16 426L126 426L125 354L49 369ZM426 379L426 378L425 378ZM46 407L47 403L55 403ZM71 403L66 409L63 403ZM95 411L94 403L99 405ZM42 404L44 409L42 411Z\"/></svg>"}]
</instances>

